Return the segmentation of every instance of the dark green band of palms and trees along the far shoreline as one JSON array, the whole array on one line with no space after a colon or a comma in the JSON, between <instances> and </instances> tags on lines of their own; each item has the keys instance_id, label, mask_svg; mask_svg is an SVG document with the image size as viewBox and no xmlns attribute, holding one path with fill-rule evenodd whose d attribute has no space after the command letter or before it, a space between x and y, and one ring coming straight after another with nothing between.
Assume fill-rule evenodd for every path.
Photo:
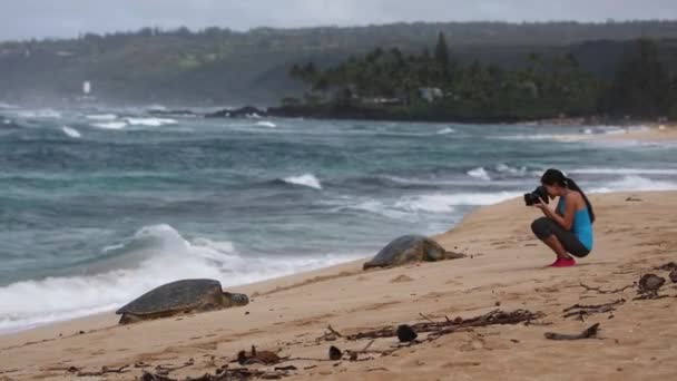
<instances>
[{"instance_id":1,"label":"dark green band of palms and trees along the far shoreline","mask_svg":"<svg viewBox=\"0 0 677 381\"><path fill-rule=\"evenodd\" d=\"M627 43L605 79L581 68L573 52L530 53L523 68L506 70L474 60L461 63L443 33L433 53L375 48L318 70L294 65L305 99L282 111L331 117L424 120L524 120L557 117L677 118L677 71L668 71L658 43ZM434 91L434 92L432 92Z\"/></svg>"}]
</instances>

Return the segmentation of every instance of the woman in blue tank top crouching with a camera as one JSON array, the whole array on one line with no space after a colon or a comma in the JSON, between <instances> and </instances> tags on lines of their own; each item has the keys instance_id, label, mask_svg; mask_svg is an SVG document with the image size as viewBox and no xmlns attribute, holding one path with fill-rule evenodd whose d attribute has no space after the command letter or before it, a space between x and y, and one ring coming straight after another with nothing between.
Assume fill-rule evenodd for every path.
<instances>
[{"instance_id":1,"label":"woman in blue tank top crouching with a camera","mask_svg":"<svg viewBox=\"0 0 677 381\"><path fill-rule=\"evenodd\" d=\"M573 266L576 261L569 254L585 257L592 250L592 205L578 185L558 169L546 170L541 185L550 198L559 197L559 203L555 211L542 199L534 204L546 216L536 219L531 229L557 254L552 267Z\"/></svg>"}]
</instances>

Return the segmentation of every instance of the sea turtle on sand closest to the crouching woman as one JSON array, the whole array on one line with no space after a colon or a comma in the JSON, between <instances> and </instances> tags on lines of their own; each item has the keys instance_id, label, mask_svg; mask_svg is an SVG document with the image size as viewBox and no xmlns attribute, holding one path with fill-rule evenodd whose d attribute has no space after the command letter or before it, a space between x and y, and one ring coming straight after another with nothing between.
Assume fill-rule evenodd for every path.
<instances>
[{"instance_id":1,"label":"sea turtle on sand closest to the crouching woman","mask_svg":"<svg viewBox=\"0 0 677 381\"><path fill-rule=\"evenodd\" d=\"M448 252L439 243L421 235L401 236L383 247L363 268L393 267L409 262L458 260L463 254Z\"/></svg>"}]
</instances>

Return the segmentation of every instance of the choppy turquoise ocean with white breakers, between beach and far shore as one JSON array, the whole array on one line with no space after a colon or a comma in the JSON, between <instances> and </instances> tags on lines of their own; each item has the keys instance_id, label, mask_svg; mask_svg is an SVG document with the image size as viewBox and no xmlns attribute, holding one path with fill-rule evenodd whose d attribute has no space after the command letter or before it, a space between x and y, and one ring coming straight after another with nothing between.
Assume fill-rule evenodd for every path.
<instances>
[{"instance_id":1,"label":"choppy turquoise ocean with white breakers, between beach and far shore","mask_svg":"<svg viewBox=\"0 0 677 381\"><path fill-rule=\"evenodd\" d=\"M587 192L677 189L677 145L581 140L619 133L0 108L0 332L178 279L228 286L370 256L549 167Z\"/></svg>"}]
</instances>

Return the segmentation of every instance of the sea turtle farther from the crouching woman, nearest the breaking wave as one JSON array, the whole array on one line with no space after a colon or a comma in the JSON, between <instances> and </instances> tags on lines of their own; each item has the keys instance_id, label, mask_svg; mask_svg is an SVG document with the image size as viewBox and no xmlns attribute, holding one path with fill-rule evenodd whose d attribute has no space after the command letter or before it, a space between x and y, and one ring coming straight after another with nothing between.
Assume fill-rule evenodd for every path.
<instances>
[{"instance_id":1,"label":"sea turtle farther from the crouching woman, nearest the breaking wave","mask_svg":"<svg viewBox=\"0 0 677 381\"><path fill-rule=\"evenodd\" d=\"M248 303L249 299L245 294L224 292L218 281L185 280L154 289L116 313L122 315L120 324L129 324L141 320L215 311Z\"/></svg>"}]
</instances>

